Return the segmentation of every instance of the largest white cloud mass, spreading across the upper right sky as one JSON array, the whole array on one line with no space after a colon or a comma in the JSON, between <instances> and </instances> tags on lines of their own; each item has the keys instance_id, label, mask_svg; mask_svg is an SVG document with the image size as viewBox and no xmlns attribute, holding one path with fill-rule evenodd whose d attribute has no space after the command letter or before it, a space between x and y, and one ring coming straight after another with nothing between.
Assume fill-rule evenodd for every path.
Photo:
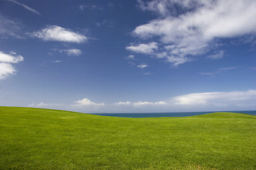
<instances>
[{"instance_id":1,"label":"largest white cloud mass, spreading across the upper right sky","mask_svg":"<svg viewBox=\"0 0 256 170\"><path fill-rule=\"evenodd\" d=\"M176 66L191 61L189 57L205 54L215 40L256 33L254 0L139 0L139 7L161 17L137 26L133 35L142 40L158 38L156 57ZM136 46L127 50L141 52ZM223 53L209 58L221 58Z\"/></svg>"}]
</instances>

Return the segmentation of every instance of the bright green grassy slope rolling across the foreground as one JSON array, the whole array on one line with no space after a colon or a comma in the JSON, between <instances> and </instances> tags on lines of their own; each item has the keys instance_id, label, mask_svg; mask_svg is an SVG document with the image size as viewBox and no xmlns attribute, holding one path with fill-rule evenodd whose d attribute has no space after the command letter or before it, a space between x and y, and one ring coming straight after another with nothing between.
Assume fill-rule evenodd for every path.
<instances>
[{"instance_id":1,"label":"bright green grassy slope rolling across the foreground","mask_svg":"<svg viewBox=\"0 0 256 170\"><path fill-rule=\"evenodd\" d=\"M256 116L113 118L0 107L0 169L256 169Z\"/></svg>"}]
</instances>

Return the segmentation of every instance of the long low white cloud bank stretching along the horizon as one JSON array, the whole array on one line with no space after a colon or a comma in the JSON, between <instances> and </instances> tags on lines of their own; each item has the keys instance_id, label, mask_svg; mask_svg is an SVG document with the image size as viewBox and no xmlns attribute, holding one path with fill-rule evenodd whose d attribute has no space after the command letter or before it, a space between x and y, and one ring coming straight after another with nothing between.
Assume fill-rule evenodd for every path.
<instances>
[{"instance_id":1,"label":"long low white cloud bank stretching along the horizon","mask_svg":"<svg viewBox=\"0 0 256 170\"><path fill-rule=\"evenodd\" d=\"M28 106L58 108L83 113L131 113L131 112L176 112L176 111L242 111L256 110L256 90L208 92L174 96L165 101L119 101L116 103L96 103L83 98L74 103L50 104L32 103Z\"/></svg>"}]
</instances>

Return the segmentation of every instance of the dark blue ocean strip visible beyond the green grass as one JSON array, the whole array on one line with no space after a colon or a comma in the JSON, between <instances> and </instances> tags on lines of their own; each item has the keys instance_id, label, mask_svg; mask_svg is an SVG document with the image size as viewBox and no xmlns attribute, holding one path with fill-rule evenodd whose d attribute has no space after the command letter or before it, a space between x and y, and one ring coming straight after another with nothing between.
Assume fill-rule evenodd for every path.
<instances>
[{"instance_id":1,"label":"dark blue ocean strip visible beyond the green grass","mask_svg":"<svg viewBox=\"0 0 256 170\"><path fill-rule=\"evenodd\" d=\"M228 111L233 113L245 113L256 115L256 111ZM203 115L213 112L174 112L174 113L93 113L92 115L105 115L122 118L159 118L159 117L186 117L191 115Z\"/></svg>"}]
</instances>

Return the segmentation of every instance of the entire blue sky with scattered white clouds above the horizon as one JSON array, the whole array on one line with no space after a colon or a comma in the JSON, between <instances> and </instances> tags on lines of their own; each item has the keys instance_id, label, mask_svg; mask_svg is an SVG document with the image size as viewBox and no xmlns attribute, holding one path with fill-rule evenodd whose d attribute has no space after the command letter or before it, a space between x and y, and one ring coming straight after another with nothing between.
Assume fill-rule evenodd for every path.
<instances>
[{"instance_id":1,"label":"entire blue sky with scattered white clouds above the horizon","mask_svg":"<svg viewBox=\"0 0 256 170\"><path fill-rule=\"evenodd\" d=\"M0 106L256 110L256 1L0 1Z\"/></svg>"}]
</instances>

